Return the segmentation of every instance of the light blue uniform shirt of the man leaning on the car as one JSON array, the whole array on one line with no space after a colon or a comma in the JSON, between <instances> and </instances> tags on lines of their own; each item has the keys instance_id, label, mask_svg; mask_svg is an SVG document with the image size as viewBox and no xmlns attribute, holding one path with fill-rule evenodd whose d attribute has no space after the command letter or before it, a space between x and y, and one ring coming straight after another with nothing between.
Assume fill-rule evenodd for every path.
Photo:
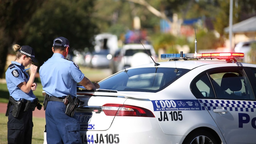
<instances>
[{"instance_id":1,"label":"light blue uniform shirt of the man leaning on the car","mask_svg":"<svg viewBox=\"0 0 256 144\"><path fill-rule=\"evenodd\" d=\"M69 94L72 97L76 96L77 83L84 77L78 66L60 53L54 53L39 68L39 74L46 94L62 98Z\"/></svg>"}]
</instances>

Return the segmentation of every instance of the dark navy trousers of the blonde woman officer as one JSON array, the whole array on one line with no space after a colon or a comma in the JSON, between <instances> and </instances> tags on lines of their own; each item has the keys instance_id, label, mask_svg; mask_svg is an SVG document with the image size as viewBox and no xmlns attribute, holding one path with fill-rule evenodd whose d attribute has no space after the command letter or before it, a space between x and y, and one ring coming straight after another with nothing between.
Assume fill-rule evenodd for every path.
<instances>
[{"instance_id":1,"label":"dark navy trousers of the blonde woman officer","mask_svg":"<svg viewBox=\"0 0 256 144\"><path fill-rule=\"evenodd\" d=\"M8 144L31 144L32 140L32 109L24 112L20 110L18 118L12 116L13 105L10 107L7 122L7 140Z\"/></svg>"}]
</instances>

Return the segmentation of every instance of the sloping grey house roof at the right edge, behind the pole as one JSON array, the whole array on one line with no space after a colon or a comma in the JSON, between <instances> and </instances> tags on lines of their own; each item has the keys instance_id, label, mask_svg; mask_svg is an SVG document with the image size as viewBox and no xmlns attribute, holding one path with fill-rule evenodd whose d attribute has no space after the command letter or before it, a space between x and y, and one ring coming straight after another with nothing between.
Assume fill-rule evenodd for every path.
<instances>
[{"instance_id":1,"label":"sloping grey house roof at the right edge, behind the pole","mask_svg":"<svg viewBox=\"0 0 256 144\"><path fill-rule=\"evenodd\" d=\"M233 33L256 31L256 16L243 20L239 23L233 24ZM224 29L226 33L229 32L229 27Z\"/></svg>"}]
</instances>

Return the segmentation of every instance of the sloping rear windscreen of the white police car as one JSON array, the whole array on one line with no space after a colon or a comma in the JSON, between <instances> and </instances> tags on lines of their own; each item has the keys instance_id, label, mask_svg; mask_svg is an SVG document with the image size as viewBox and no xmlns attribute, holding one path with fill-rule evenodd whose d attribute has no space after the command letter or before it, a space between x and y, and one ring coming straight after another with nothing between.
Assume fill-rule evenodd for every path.
<instances>
[{"instance_id":1,"label":"sloping rear windscreen of the white police car","mask_svg":"<svg viewBox=\"0 0 256 144\"><path fill-rule=\"evenodd\" d=\"M101 89L157 92L169 86L189 69L138 68L122 71L99 83Z\"/></svg>"}]
</instances>

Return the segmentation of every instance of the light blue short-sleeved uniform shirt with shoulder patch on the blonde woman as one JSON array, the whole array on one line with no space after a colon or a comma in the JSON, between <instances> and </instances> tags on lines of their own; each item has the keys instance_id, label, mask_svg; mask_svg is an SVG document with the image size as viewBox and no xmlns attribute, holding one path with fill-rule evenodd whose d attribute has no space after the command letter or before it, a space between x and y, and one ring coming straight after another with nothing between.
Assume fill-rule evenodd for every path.
<instances>
[{"instance_id":1,"label":"light blue short-sleeved uniform shirt with shoulder patch on the blonde woman","mask_svg":"<svg viewBox=\"0 0 256 144\"><path fill-rule=\"evenodd\" d=\"M10 66L5 72L6 84L10 96L12 96L17 101L21 99L26 99L33 102L36 98L36 96L33 94L33 91L30 90L29 93L26 94L18 87L20 83L27 83L29 81L29 75L24 70L25 67L16 61L12 61L12 64Z\"/></svg>"}]
</instances>

